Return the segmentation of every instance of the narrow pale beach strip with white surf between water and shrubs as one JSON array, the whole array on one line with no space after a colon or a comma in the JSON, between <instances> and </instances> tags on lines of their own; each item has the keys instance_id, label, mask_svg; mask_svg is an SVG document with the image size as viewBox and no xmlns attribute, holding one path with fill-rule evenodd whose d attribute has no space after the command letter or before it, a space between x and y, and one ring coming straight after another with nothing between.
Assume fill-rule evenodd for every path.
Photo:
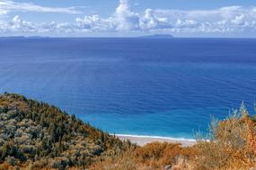
<instances>
[{"instance_id":1,"label":"narrow pale beach strip with white surf between water and shrubs","mask_svg":"<svg viewBox=\"0 0 256 170\"><path fill-rule=\"evenodd\" d=\"M164 137L135 136L135 135L123 135L123 134L116 134L116 136L120 140L130 140L132 143L136 143L139 146L144 146L147 143L151 143L154 141L181 143L183 147L189 147L196 143L195 140L171 139L171 138L164 138Z\"/></svg>"}]
</instances>

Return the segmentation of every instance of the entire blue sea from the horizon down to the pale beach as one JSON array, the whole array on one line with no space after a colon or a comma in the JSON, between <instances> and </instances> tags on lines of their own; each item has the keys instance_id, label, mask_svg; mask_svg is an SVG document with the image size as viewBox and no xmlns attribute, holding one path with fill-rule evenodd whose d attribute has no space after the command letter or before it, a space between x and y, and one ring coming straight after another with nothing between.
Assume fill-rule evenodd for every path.
<instances>
[{"instance_id":1,"label":"entire blue sea from the horizon down to the pale beach","mask_svg":"<svg viewBox=\"0 0 256 170\"><path fill-rule=\"evenodd\" d=\"M192 138L256 100L256 39L0 38L0 92L107 132Z\"/></svg>"}]
</instances>

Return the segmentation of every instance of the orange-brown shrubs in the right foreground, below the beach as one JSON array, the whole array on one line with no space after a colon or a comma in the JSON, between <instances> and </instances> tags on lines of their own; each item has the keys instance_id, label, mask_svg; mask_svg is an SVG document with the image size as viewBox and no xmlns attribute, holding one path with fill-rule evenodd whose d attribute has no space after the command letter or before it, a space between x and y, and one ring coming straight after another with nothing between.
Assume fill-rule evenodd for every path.
<instances>
[{"instance_id":1,"label":"orange-brown shrubs in the right foreground, below the beach","mask_svg":"<svg viewBox=\"0 0 256 170\"><path fill-rule=\"evenodd\" d=\"M256 166L255 158L256 123L242 105L225 120L213 120L207 137L197 135L197 143L192 147L154 142L122 157L97 162L92 169L252 169Z\"/></svg>"}]
</instances>

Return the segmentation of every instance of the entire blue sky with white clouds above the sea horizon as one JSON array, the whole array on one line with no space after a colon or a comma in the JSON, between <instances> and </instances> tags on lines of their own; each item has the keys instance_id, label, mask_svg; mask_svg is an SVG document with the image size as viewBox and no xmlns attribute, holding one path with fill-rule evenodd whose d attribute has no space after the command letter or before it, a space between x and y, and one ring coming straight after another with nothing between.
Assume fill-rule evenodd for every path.
<instances>
[{"instance_id":1,"label":"entire blue sky with white clouds above the sea horizon","mask_svg":"<svg viewBox=\"0 0 256 170\"><path fill-rule=\"evenodd\" d=\"M0 0L0 36L256 38L255 0Z\"/></svg>"}]
</instances>

